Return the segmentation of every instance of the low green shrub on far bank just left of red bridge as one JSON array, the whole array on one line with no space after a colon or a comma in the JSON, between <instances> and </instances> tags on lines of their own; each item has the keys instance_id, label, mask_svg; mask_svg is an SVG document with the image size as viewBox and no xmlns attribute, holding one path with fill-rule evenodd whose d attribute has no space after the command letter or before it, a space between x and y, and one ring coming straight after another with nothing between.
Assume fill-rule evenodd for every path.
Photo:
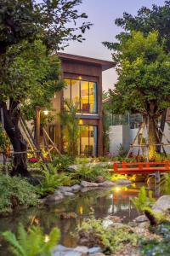
<instances>
[{"instance_id":1,"label":"low green shrub on far bank just left of red bridge","mask_svg":"<svg viewBox=\"0 0 170 256\"><path fill-rule=\"evenodd\" d=\"M103 166L99 166L98 164L94 166L87 166L86 164L82 164L77 171L71 173L71 178L76 180L86 180L88 182L94 182L96 177L109 177L110 174L105 170Z\"/></svg>"}]
</instances>

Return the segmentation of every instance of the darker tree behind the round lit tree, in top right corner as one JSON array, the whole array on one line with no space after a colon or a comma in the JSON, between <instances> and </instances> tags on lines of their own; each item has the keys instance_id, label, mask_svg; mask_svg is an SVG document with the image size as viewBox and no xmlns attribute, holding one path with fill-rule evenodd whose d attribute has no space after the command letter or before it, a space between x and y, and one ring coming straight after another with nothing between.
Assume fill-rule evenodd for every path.
<instances>
[{"instance_id":1,"label":"darker tree behind the round lit tree, in top right corner","mask_svg":"<svg viewBox=\"0 0 170 256\"><path fill-rule=\"evenodd\" d=\"M158 40L161 42L164 41L163 49L166 52L170 51L170 1L165 1L163 6L156 6L156 4L152 5L151 9L146 7L142 7L139 9L138 14L136 16L123 13L122 18L116 19L116 26L121 26L124 32L121 32L116 36L117 39L128 38L129 33L132 31L143 32L144 35L148 35L149 32L158 32ZM109 49L115 49L116 44L105 42L105 45ZM161 114L161 131L164 130L165 121L166 121L166 113L167 109ZM159 137L161 140L162 134L159 133ZM159 151L161 147L158 147Z\"/></svg>"}]
</instances>

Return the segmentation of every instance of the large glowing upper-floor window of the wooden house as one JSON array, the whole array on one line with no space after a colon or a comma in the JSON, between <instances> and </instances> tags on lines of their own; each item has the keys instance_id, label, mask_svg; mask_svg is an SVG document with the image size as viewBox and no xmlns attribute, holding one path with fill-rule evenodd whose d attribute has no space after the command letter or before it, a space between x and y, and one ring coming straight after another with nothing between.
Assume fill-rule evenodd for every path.
<instances>
[{"instance_id":1,"label":"large glowing upper-floor window of the wooden house","mask_svg":"<svg viewBox=\"0 0 170 256\"><path fill-rule=\"evenodd\" d=\"M98 113L97 83L65 79L64 100L73 103L79 113Z\"/></svg>"}]
</instances>

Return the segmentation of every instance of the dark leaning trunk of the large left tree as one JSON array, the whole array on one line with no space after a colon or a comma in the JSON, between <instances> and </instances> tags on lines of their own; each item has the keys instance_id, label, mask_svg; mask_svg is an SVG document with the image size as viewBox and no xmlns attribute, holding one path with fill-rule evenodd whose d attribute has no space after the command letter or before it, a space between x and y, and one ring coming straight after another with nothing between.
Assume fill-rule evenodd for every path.
<instances>
[{"instance_id":1,"label":"dark leaning trunk of the large left tree","mask_svg":"<svg viewBox=\"0 0 170 256\"><path fill-rule=\"evenodd\" d=\"M31 175L27 171L27 143L19 129L19 114L16 112L16 106L17 103L14 102L15 108L8 110L6 102L0 101L0 108L3 108L4 129L14 148L14 166L11 175L30 177Z\"/></svg>"}]
</instances>

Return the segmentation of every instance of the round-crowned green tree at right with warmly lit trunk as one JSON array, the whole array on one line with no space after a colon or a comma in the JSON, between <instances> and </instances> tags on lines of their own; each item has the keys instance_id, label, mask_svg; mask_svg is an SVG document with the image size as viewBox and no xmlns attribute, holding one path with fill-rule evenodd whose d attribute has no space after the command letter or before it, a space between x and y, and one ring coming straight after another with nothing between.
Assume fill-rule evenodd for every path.
<instances>
[{"instance_id":1,"label":"round-crowned green tree at right with warmly lit trunk","mask_svg":"<svg viewBox=\"0 0 170 256\"><path fill-rule=\"evenodd\" d=\"M159 138L157 119L170 106L170 55L165 53L158 32L144 36L132 32L120 38L115 46L118 82L111 91L115 113L141 113L149 117L150 159L154 157ZM147 120L145 119L145 122Z\"/></svg>"}]
</instances>

